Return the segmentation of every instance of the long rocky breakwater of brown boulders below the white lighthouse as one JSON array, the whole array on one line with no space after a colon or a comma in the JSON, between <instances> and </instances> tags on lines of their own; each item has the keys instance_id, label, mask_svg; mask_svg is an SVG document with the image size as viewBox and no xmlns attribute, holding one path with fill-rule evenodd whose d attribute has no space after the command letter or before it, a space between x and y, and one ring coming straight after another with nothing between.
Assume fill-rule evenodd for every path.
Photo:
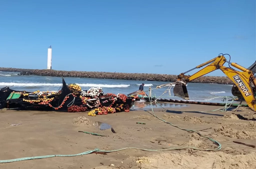
<instances>
[{"instance_id":1,"label":"long rocky breakwater of brown boulders below the white lighthouse","mask_svg":"<svg viewBox=\"0 0 256 169\"><path fill-rule=\"evenodd\" d=\"M79 77L79 78L99 78L99 79L122 79L122 80L146 80L146 81L166 81L174 82L177 75L165 74L139 74L139 73L110 73L110 72L89 72L89 71L62 71L48 69L16 69L0 68L0 71L20 72L19 75L37 75L53 77ZM191 81L191 83L217 83L233 84L227 77L204 76Z\"/></svg>"}]
</instances>

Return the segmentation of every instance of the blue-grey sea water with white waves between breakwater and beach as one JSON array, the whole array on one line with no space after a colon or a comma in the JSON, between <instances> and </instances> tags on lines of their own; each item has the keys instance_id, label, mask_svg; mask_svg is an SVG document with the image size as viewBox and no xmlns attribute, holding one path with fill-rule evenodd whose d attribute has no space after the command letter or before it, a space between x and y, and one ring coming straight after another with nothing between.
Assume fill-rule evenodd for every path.
<instances>
[{"instance_id":1,"label":"blue-grey sea water with white waves between breakwater and beach","mask_svg":"<svg viewBox=\"0 0 256 169\"><path fill-rule=\"evenodd\" d=\"M62 85L61 77L48 77L48 76L18 76L17 72L0 72L0 88L5 86L10 87L13 90L20 91L58 91ZM77 83L83 90L87 90L90 87L102 87L104 93L123 93L129 94L139 89L140 84L144 83L144 91L149 87L156 88L161 84L167 82L159 81L135 81L135 80L112 80L112 79L92 79L92 78L64 78L66 83ZM232 96L232 85L224 84L209 84L209 83L188 83L187 90L190 100L193 101L207 101L207 102L222 102L223 96ZM155 89L154 94L156 96L162 95L167 88ZM148 93L147 93L148 94ZM161 98L183 100L182 98L175 97L173 94L173 87L171 89L171 96L168 92ZM143 102L140 103L144 104ZM175 104L163 104L162 106L172 107ZM176 105L179 106L179 105Z\"/></svg>"}]
</instances>

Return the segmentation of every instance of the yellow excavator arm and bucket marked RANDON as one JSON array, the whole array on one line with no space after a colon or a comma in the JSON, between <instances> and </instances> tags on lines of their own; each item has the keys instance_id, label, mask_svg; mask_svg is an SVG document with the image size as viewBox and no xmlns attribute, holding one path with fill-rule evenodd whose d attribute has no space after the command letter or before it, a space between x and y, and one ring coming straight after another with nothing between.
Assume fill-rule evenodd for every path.
<instances>
[{"instance_id":1,"label":"yellow excavator arm and bucket marked RANDON","mask_svg":"<svg viewBox=\"0 0 256 169\"><path fill-rule=\"evenodd\" d=\"M224 57L225 55L229 56L229 61ZM209 60L208 62L205 62L201 65L198 65L197 67L190 69L184 73L181 73L178 75L177 78L177 84L175 85L173 89L173 93L175 96L178 96L180 98L183 98L185 100L189 100L188 91L186 87L186 83L195 80L201 76L204 76L214 70L220 69L231 81L234 82L234 86L231 89L231 92L234 96L238 96L240 98L243 98L248 106L253 110L256 111L256 101L255 101L255 88L256 88L256 77L254 74L256 74L255 64L252 64L248 69L238 65L237 63L231 63L230 62L230 55L229 54L219 54L214 59ZM224 63L228 63L229 67L223 66ZM208 66L206 66L208 65ZM233 66L241 71L237 71L230 67ZM186 73L195 70L197 68L201 68L203 66L203 69L199 70L197 73L193 75L185 75ZM180 82L181 81L181 82ZM182 83L182 82L185 82ZM251 83L253 85L251 85Z\"/></svg>"}]
</instances>

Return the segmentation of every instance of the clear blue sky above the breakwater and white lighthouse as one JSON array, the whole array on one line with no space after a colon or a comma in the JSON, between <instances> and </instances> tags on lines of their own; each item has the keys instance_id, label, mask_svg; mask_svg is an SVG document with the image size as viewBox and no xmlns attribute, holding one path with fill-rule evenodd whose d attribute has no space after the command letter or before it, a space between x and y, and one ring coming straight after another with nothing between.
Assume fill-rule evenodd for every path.
<instances>
[{"instance_id":1,"label":"clear blue sky above the breakwater and white lighthouse","mask_svg":"<svg viewBox=\"0 0 256 169\"><path fill-rule=\"evenodd\" d=\"M179 74L256 60L255 1L1 1L0 67ZM217 70L209 75L224 76Z\"/></svg>"}]
</instances>

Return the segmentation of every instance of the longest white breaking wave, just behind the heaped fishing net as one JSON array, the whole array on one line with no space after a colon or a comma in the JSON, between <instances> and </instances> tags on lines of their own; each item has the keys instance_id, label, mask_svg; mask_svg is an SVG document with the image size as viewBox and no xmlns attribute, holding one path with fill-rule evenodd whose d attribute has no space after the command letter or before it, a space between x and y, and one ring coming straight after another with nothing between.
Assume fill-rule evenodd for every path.
<instances>
[{"instance_id":1,"label":"longest white breaking wave, just behind the heaped fishing net","mask_svg":"<svg viewBox=\"0 0 256 169\"><path fill-rule=\"evenodd\" d=\"M106 88L120 88L129 87L130 84L92 84L92 83L76 83L82 87L106 87ZM62 83L15 83L15 82L0 82L0 86L61 86Z\"/></svg>"}]
</instances>

